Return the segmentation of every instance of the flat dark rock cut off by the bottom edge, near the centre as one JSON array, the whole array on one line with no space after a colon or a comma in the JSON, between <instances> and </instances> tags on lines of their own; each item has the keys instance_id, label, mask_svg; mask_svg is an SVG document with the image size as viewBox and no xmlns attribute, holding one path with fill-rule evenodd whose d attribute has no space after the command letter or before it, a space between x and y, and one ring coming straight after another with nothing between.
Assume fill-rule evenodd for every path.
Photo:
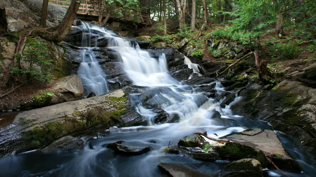
<instances>
[{"instance_id":1,"label":"flat dark rock cut off by the bottom edge, near the centre","mask_svg":"<svg viewBox=\"0 0 316 177\"><path fill-rule=\"evenodd\" d=\"M160 163L158 167L172 177L211 177L215 175L203 174L185 167L184 164Z\"/></svg>"}]
</instances>

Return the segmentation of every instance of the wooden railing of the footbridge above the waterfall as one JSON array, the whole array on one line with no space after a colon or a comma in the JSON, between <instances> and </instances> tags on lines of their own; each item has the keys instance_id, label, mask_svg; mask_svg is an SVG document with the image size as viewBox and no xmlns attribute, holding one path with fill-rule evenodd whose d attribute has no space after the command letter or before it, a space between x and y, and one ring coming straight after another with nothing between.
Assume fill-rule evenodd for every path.
<instances>
[{"instance_id":1,"label":"wooden railing of the footbridge above the waterfall","mask_svg":"<svg viewBox=\"0 0 316 177\"><path fill-rule=\"evenodd\" d=\"M58 4L58 5L60 5L62 7L65 7L65 8L68 8L69 5L70 5L70 2L68 2L68 1L61 1L61 0L49 0L49 2ZM91 2L89 0L82 0L77 14L98 16L97 12L94 10L94 7L93 7L92 3L93 2ZM130 9L130 10L131 10L131 12L129 12L128 14L124 14L124 17L125 17L124 19L125 20L134 21L134 22L137 22L137 23L143 23L143 24L146 24L146 25L152 25L152 22L150 20L150 15L148 13L146 13L146 12L138 12L136 9ZM106 11L103 14L106 14ZM134 17L137 17L137 16L138 16L138 18L135 19Z\"/></svg>"}]
</instances>

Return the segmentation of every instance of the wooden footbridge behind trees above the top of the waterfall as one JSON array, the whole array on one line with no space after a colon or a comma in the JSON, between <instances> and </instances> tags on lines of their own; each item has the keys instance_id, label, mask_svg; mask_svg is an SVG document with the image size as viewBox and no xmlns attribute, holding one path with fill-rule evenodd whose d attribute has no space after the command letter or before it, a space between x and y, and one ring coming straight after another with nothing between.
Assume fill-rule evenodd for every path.
<instances>
[{"instance_id":1,"label":"wooden footbridge behind trees above the top of the waterfall","mask_svg":"<svg viewBox=\"0 0 316 177\"><path fill-rule=\"evenodd\" d=\"M68 8L70 5L70 2L67 1L60 1L60 0L49 0L50 3L58 4L62 7ZM88 0L82 0L79 10L77 12L77 18L83 21L98 21L99 15L97 14L96 10L94 10L94 7L92 5L92 1ZM103 13L102 20L106 17L106 11ZM146 12L137 11L135 9L128 9L122 12L124 18L115 18L110 17L110 19L107 21L108 23L112 22L119 22L126 25L131 26L150 26L152 25L152 22L150 20L150 15Z\"/></svg>"}]
</instances>

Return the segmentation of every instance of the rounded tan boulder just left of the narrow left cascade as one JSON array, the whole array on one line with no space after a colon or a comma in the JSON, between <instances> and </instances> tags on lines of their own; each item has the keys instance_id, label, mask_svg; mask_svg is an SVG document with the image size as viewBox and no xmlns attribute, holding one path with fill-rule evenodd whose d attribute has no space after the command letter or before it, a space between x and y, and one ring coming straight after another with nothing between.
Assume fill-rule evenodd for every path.
<instances>
[{"instance_id":1,"label":"rounded tan boulder just left of the narrow left cascade","mask_svg":"<svg viewBox=\"0 0 316 177\"><path fill-rule=\"evenodd\" d=\"M52 92L51 104L83 99L82 80L77 75L58 79L52 83L48 90Z\"/></svg>"}]
</instances>

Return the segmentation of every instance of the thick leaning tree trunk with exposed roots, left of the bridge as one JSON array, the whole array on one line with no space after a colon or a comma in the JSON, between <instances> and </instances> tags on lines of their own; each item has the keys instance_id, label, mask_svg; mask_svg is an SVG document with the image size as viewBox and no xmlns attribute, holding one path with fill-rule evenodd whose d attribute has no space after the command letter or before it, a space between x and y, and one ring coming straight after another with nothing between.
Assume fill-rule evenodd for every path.
<instances>
[{"instance_id":1,"label":"thick leaning tree trunk with exposed roots, left of the bridge","mask_svg":"<svg viewBox=\"0 0 316 177\"><path fill-rule=\"evenodd\" d=\"M67 33L71 29L71 25L76 18L76 13L79 9L81 0L71 0L68 10L64 16L63 21L57 26L57 29L53 32L54 40L62 42L67 36Z\"/></svg>"}]
</instances>

